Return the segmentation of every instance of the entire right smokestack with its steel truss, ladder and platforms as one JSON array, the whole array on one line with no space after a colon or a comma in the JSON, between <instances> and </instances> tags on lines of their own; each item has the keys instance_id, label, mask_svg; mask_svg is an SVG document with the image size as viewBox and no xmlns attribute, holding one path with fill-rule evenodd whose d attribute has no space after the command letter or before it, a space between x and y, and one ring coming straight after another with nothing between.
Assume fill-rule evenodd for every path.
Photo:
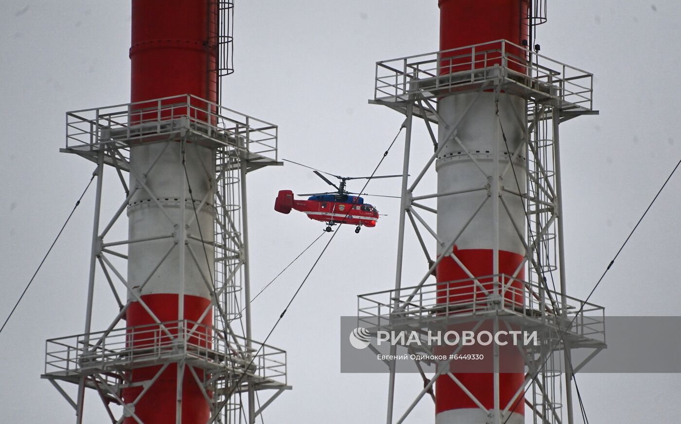
<instances>
[{"instance_id":1,"label":"entire right smokestack with its steel truss, ladder and platforms","mask_svg":"<svg viewBox=\"0 0 681 424\"><path fill-rule=\"evenodd\" d=\"M398 423L426 393L434 397L437 424L522 424L526 413L535 421L560 423L556 406L563 404L563 394L552 389L558 386L565 387L571 424L570 350L605 343L603 332L567 331L570 318L583 315L584 303L567 296L558 124L597 113L593 75L538 54L535 34L546 21L545 1L439 0L439 7L438 52L376 64L370 103L407 116L405 156L395 288L360 296L360 322L376 323L367 328L370 334L409 328L419 332L417 338L448 330L498 334L533 328L539 334L537 346L524 347L495 342L452 350L403 343L409 353L439 360L428 378L423 370L432 362L415 359L424 388ZM414 117L426 124L432 144L425 144L435 146L425 165L410 163ZM423 188L432 164L434 194ZM426 204L433 199L437 207ZM435 230L424 211L436 214ZM408 223L428 269L415 285L404 287ZM432 275L436 281L430 284ZM569 317L572 309L576 316ZM391 347L390 357L398 357L397 351ZM556 351L562 351L563 364L554 364ZM458 361L462 352L484 361L476 364L466 355ZM396 369L391 359L387 424L394 422ZM564 380L556 369L565 370Z\"/></svg>"}]
</instances>

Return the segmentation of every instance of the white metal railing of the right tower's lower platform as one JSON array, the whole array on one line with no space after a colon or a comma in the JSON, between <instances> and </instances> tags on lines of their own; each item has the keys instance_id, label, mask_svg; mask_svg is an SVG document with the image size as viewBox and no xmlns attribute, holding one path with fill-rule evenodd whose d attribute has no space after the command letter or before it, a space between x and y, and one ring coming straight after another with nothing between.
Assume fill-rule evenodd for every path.
<instances>
[{"instance_id":1,"label":"white metal railing of the right tower's lower platform","mask_svg":"<svg viewBox=\"0 0 681 424\"><path fill-rule=\"evenodd\" d=\"M526 317L560 328L563 321L561 294L511 275L499 274L403 287L358 296L360 325L383 328L394 323L424 325L470 316ZM565 296L569 331L605 342L605 308Z\"/></svg>"}]
</instances>

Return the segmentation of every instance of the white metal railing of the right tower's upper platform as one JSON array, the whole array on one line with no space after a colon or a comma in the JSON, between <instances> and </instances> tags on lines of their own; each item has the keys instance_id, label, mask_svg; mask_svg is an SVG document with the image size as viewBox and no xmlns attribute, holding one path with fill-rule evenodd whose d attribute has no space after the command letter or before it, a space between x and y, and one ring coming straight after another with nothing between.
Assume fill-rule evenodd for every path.
<instances>
[{"instance_id":1,"label":"white metal railing of the right tower's upper platform","mask_svg":"<svg viewBox=\"0 0 681 424\"><path fill-rule=\"evenodd\" d=\"M562 103L592 109L592 73L507 40L377 62L374 99L400 102L417 93L435 98L498 78Z\"/></svg>"}]
</instances>

